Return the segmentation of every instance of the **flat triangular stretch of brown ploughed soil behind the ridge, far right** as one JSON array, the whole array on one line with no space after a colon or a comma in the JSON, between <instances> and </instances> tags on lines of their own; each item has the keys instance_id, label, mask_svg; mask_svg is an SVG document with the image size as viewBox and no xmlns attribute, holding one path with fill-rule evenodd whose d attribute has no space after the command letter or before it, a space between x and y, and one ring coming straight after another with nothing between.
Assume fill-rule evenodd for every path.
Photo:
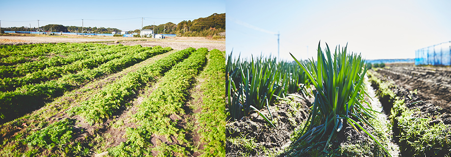
<instances>
[{"instance_id":1,"label":"flat triangular stretch of brown ploughed soil behind the ridge, far right","mask_svg":"<svg viewBox=\"0 0 451 157\"><path fill-rule=\"evenodd\" d=\"M390 67L376 71L409 90L417 90L424 100L451 111L451 71L424 67Z\"/></svg>"}]
</instances>

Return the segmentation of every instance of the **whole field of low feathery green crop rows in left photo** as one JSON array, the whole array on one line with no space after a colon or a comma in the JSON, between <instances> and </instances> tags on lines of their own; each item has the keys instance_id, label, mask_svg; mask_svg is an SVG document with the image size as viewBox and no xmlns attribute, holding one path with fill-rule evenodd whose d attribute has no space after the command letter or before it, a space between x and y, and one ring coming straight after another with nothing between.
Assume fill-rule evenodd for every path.
<instances>
[{"instance_id":1,"label":"whole field of low feathery green crop rows in left photo","mask_svg":"<svg viewBox=\"0 0 451 157\"><path fill-rule=\"evenodd\" d=\"M0 47L2 157L225 154L225 52Z\"/></svg>"}]
</instances>

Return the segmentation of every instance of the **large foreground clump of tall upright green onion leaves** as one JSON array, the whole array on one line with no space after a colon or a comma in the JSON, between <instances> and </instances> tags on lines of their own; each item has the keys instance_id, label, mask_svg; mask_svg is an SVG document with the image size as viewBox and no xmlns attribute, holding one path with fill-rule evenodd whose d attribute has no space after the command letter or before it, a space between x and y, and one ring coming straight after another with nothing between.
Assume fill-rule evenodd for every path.
<instances>
[{"instance_id":1,"label":"large foreground clump of tall upright green onion leaves","mask_svg":"<svg viewBox=\"0 0 451 157\"><path fill-rule=\"evenodd\" d=\"M309 64L304 64L293 55L292 57L306 72L317 90L315 102L311 106L312 111L302 129L306 131L293 145L302 141L306 143L320 141L317 144L326 143L324 148L326 150L333 135L341 131L344 123L348 123L356 130L357 126L384 148L356 121L370 125L365 118L374 118L375 112L372 108L363 105L366 103L363 80L368 67L365 67L365 60L360 55L347 54L347 46L345 46L342 49L336 48L332 57L327 44L324 52L318 44L317 64L313 60ZM313 71L308 70L308 66ZM385 148L384 150L388 153Z\"/></svg>"}]
</instances>

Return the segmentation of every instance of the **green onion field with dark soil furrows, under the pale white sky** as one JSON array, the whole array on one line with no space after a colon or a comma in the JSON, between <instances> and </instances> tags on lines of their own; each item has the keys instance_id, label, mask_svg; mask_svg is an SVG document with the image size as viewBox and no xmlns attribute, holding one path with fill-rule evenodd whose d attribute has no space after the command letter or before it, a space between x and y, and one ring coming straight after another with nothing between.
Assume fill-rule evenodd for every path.
<instances>
[{"instance_id":1,"label":"green onion field with dark soil furrows, under the pale white sky","mask_svg":"<svg viewBox=\"0 0 451 157\"><path fill-rule=\"evenodd\" d=\"M318 62L229 55L225 156L451 156L451 70L371 68L346 49L318 47Z\"/></svg>"}]
</instances>

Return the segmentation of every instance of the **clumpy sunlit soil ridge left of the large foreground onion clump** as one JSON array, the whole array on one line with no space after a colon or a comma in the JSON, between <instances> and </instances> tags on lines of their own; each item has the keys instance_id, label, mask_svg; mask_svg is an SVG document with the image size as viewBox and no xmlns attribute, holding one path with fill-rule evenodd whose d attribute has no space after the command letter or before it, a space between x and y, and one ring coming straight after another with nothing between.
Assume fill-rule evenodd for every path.
<instances>
[{"instance_id":1,"label":"clumpy sunlit soil ridge left of the large foreground onion clump","mask_svg":"<svg viewBox=\"0 0 451 157\"><path fill-rule=\"evenodd\" d=\"M298 95L301 96L301 95ZM270 106L271 113L276 119L277 128L272 128L258 113L250 117L243 117L236 122L227 122L225 125L226 157L266 157L269 152L281 152L291 143L290 136L293 131L308 117L308 106L313 98L289 96L290 101L281 101ZM262 111L265 115L268 110ZM253 148L245 148L243 144L232 143L230 139L246 138L253 141Z\"/></svg>"}]
</instances>

